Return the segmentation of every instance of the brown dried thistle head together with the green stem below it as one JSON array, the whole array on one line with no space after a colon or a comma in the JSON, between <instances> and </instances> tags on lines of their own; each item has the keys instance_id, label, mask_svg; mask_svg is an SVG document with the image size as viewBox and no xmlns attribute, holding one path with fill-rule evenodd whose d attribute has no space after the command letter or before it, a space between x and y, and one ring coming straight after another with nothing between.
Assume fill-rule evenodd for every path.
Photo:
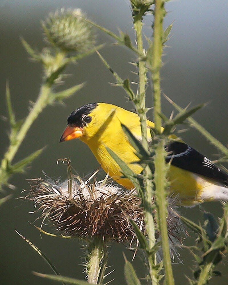
<instances>
[{"instance_id":1,"label":"brown dried thistle head together with the green stem below it","mask_svg":"<svg viewBox=\"0 0 228 285\"><path fill-rule=\"evenodd\" d=\"M85 242L87 280L91 284L103 284L108 245L114 241L137 251L135 230L139 229L141 239L147 236L142 201L135 190L127 191L113 184L107 176L102 181L96 181L98 171L82 179L73 174L69 160L64 159L63 162L68 166L66 181L55 182L48 176L32 179L31 188L26 190L23 199L33 201L35 212L38 213L36 221L41 220L38 229L42 233L78 238ZM170 252L175 254L175 247L182 244L182 233L185 230L173 207L174 202L170 202L167 224ZM156 240L159 240L160 231L156 220L154 222ZM57 234L43 231L44 224L54 228ZM56 278L64 281L64 277Z\"/></svg>"}]
</instances>

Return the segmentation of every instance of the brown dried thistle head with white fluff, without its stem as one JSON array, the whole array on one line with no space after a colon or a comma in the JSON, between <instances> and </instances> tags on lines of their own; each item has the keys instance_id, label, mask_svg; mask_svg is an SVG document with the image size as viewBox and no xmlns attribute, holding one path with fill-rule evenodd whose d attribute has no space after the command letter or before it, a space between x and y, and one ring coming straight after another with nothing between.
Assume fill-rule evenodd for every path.
<instances>
[{"instance_id":1,"label":"brown dried thistle head with white fluff, without its stem","mask_svg":"<svg viewBox=\"0 0 228 285\"><path fill-rule=\"evenodd\" d=\"M133 191L105 181L91 183L78 176L63 183L50 178L30 181L31 189L25 198L34 201L36 211L41 213L40 218L48 220L62 235L99 237L121 243L136 241L129 219L145 233L141 199ZM171 208L167 223L170 241L173 237L180 241L182 227ZM159 239L159 231L156 238Z\"/></svg>"}]
</instances>

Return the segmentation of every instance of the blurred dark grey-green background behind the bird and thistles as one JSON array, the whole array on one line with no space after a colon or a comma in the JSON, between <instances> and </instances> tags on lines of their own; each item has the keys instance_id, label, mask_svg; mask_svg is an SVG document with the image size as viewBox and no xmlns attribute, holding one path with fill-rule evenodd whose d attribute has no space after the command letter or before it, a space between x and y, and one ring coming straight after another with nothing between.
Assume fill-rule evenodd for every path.
<instances>
[{"instance_id":1,"label":"blurred dark grey-green background behind the bird and thistles","mask_svg":"<svg viewBox=\"0 0 228 285\"><path fill-rule=\"evenodd\" d=\"M0 46L1 46L1 104L0 104L0 137L1 156L7 144L9 125L5 121L7 110L5 107L5 84L9 80L13 108L17 119L24 118L28 113L28 101L35 101L42 80L42 69L37 63L28 60L20 37L34 48L41 50L44 46L40 20L45 19L49 12L61 7L81 8L87 16L100 25L118 33L118 28L134 37L132 29L130 5L127 0L96 0L96 1L0 1ZM192 105L208 102L194 117L209 132L223 144L227 144L228 133L228 30L226 1L171 1L167 3L168 11L164 27L174 21L172 37L165 49L162 68L162 92L166 93L176 103L185 107L189 102ZM144 21L144 34L151 36L152 19ZM135 60L135 55L127 48L113 46L112 39L97 32L97 43L107 42L101 54L111 67L122 78L136 80L134 66L129 62ZM113 87L109 82L115 82L111 74L105 69L96 54L72 65L66 70L70 74L64 86L56 90L65 89L82 82L86 86L70 99L65 100L65 105L54 105L46 108L32 125L25 141L23 142L15 162L31 152L47 146L25 174L14 176L11 184L13 198L0 207L1 224L1 284L54 284L32 275L32 270L42 273L52 273L47 264L39 257L25 241L14 231L32 241L44 252L65 276L83 279L82 273L84 250L82 243L75 240L58 239L42 235L28 223L33 222L36 215L28 213L33 211L32 203L15 200L23 189L28 189L27 178L42 177L42 170L51 178L65 180L66 169L56 165L58 158L70 156L72 166L83 176L98 167L98 163L90 150L80 141L69 141L59 144L60 136L66 126L66 119L74 109L89 102L104 101L132 109L127 102L125 93L119 87ZM152 105L150 87L147 92L148 107ZM162 109L169 116L172 107L162 99ZM151 113L150 113L151 115ZM194 130L181 133L181 137L194 148L201 151L211 159L216 159L218 152L199 133ZM12 191L11 191L12 192ZM6 192L7 194L8 192ZM203 208L202 208L203 207ZM216 216L221 216L220 203L205 203L202 207L180 208L182 214L199 221L202 210L211 211ZM40 225L39 223L36 223ZM192 235L191 231L189 234ZM194 243L194 236L186 240L186 244ZM112 284L125 284L123 276L123 251L130 259L132 253L124 246L113 243L110 247L109 270L115 271L107 280L115 278ZM192 276L190 266L196 265L193 257L187 250L180 249L180 260L174 261L174 275L176 284L187 284L184 274ZM142 256L138 254L133 262L139 277L144 276L141 265ZM211 284L227 284L227 258L219 266L223 276L214 278ZM180 262L182 261L182 263Z\"/></svg>"}]
</instances>

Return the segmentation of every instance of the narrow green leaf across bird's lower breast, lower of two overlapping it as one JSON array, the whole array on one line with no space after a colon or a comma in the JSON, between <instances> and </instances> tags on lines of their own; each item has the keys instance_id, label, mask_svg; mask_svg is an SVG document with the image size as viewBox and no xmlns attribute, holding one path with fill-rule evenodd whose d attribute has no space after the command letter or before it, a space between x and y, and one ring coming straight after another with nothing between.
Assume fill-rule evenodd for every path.
<instances>
[{"instance_id":1,"label":"narrow green leaf across bird's lower breast, lower of two overlapping it","mask_svg":"<svg viewBox=\"0 0 228 285\"><path fill-rule=\"evenodd\" d=\"M136 190L138 193L140 193L141 197L143 197L143 191L141 189L141 186L139 184L139 180L135 177L136 174L131 170L131 168L121 159L117 154L115 154L114 151L112 151L110 148L105 146L107 149L108 153L111 155L111 157L117 162L119 167L122 170L122 173L131 180L131 182L134 184Z\"/></svg>"}]
</instances>

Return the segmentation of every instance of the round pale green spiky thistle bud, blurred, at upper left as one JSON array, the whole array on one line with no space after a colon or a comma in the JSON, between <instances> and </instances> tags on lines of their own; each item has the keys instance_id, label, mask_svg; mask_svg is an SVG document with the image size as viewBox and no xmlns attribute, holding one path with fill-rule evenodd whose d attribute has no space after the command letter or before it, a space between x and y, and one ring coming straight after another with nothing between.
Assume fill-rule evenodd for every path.
<instances>
[{"instance_id":1,"label":"round pale green spiky thistle bud, blurred, at upper left","mask_svg":"<svg viewBox=\"0 0 228 285\"><path fill-rule=\"evenodd\" d=\"M42 23L46 39L66 52L82 53L93 48L95 36L84 17L81 9L61 9L51 13Z\"/></svg>"}]
</instances>

